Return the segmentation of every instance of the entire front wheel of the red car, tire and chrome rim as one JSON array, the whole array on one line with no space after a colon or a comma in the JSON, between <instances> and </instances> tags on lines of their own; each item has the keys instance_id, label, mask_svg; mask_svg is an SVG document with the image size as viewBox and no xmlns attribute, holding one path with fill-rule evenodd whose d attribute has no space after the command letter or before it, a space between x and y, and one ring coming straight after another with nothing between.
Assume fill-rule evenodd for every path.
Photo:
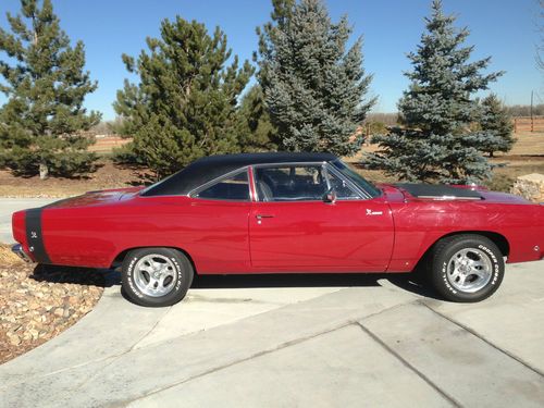
<instances>
[{"instance_id":1,"label":"entire front wheel of the red car, tire and chrome rim","mask_svg":"<svg viewBox=\"0 0 544 408\"><path fill-rule=\"evenodd\" d=\"M481 270L481 275L486 277L475 274L469 265L458 267L457 270L461 272L456 272L455 265L460 265L465 260L478 262L478 273ZM505 274L505 262L503 254L491 239L477 234L454 235L434 245L428 260L428 274L434 288L445 299L475 302L486 299L498 289ZM459 279L462 279L462 283Z\"/></svg>"}]
</instances>

